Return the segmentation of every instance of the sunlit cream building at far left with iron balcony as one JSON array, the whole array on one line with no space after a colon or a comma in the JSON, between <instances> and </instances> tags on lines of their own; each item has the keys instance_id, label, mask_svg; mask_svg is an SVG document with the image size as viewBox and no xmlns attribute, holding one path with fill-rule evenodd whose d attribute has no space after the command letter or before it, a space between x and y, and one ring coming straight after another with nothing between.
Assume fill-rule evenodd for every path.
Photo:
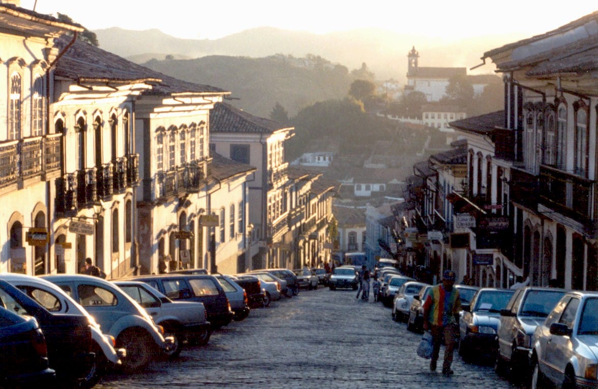
<instances>
[{"instance_id":1,"label":"sunlit cream building at far left with iron balcony","mask_svg":"<svg viewBox=\"0 0 598 389\"><path fill-rule=\"evenodd\" d=\"M76 271L54 234L56 179L65 162L65 136L51 118L55 41L82 32L12 4L0 3L0 271L30 275ZM91 220L91 219L90 219ZM93 223L91 224L93 227Z\"/></svg>"}]
</instances>

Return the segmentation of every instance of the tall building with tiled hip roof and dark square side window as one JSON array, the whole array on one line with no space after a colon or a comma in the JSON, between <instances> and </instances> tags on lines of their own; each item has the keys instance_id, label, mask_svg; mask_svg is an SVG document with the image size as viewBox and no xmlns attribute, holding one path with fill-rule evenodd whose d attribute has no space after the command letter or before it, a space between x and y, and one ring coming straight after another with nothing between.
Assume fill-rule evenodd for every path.
<instances>
[{"instance_id":1,"label":"tall building with tiled hip roof and dark square side window","mask_svg":"<svg viewBox=\"0 0 598 389\"><path fill-rule=\"evenodd\" d=\"M255 244L250 247L251 268L277 266L288 261L289 180L285 142L294 128L248 114L228 103L210 112L210 148L231 160L257 167L249 183L249 222ZM283 244L283 246L280 246ZM281 248L282 247L282 248Z\"/></svg>"}]
</instances>

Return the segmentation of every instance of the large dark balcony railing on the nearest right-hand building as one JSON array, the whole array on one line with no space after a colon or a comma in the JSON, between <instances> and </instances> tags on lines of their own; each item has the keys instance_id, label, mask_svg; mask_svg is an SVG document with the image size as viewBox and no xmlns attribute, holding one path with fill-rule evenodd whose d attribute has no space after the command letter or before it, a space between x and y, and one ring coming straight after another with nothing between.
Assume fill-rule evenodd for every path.
<instances>
[{"instance_id":1,"label":"large dark balcony railing on the nearest right-hand building","mask_svg":"<svg viewBox=\"0 0 598 389\"><path fill-rule=\"evenodd\" d=\"M594 181L541 166L539 182L540 203L584 224L593 219Z\"/></svg>"}]
</instances>

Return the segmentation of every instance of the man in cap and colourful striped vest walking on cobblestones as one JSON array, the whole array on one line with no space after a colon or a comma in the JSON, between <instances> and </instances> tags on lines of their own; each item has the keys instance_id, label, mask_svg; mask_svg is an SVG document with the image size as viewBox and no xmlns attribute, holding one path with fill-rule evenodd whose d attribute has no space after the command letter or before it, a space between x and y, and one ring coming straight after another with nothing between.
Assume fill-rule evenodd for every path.
<instances>
[{"instance_id":1,"label":"man in cap and colourful striped vest walking on cobblestones","mask_svg":"<svg viewBox=\"0 0 598 389\"><path fill-rule=\"evenodd\" d=\"M453 271L445 270L443 282L432 287L431 293L423 304L423 329L432 332L430 370L436 370L440 344L444 336L444 375L453 374L450 366L453 363L454 343L459 330L461 300L459 291L453 287L455 278Z\"/></svg>"}]
</instances>

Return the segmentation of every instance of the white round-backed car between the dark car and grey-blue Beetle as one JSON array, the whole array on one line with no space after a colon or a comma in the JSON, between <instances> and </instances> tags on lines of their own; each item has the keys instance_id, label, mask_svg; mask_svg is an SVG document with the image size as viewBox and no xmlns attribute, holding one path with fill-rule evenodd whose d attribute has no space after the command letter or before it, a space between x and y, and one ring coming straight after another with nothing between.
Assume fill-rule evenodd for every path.
<instances>
[{"instance_id":1,"label":"white round-backed car between the dark car and grey-blue Beetle","mask_svg":"<svg viewBox=\"0 0 598 389\"><path fill-rule=\"evenodd\" d=\"M2 274L2 279L16 286L50 312L74 313L86 316L91 326L92 347L97 357L98 374L108 367L121 365L120 359L126 357L126 350L124 348L115 349L116 341L114 336L102 333L102 329L93 316L62 288L41 277L33 277L32 275L7 273Z\"/></svg>"}]
</instances>

